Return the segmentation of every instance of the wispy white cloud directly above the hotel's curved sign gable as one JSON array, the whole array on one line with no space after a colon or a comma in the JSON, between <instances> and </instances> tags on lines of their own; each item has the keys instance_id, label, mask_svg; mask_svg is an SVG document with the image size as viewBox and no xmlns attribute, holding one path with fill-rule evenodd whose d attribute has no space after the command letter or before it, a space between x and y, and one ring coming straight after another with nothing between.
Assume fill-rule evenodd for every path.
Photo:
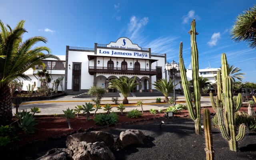
<instances>
[{"instance_id":1,"label":"wispy white cloud directly above the hotel's curved sign gable","mask_svg":"<svg viewBox=\"0 0 256 160\"><path fill-rule=\"evenodd\" d=\"M148 24L148 17L144 17L140 20L136 18L136 16L132 16L130 18L130 23L128 24L129 37L131 39L138 38L142 27L146 26L146 24Z\"/></svg>"}]
</instances>

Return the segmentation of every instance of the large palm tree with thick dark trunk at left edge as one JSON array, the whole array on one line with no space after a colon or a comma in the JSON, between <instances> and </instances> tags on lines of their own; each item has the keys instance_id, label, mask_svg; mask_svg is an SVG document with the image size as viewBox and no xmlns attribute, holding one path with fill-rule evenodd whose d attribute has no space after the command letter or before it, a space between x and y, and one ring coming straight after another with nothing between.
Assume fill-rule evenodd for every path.
<instances>
[{"instance_id":1,"label":"large palm tree with thick dark trunk at left edge","mask_svg":"<svg viewBox=\"0 0 256 160\"><path fill-rule=\"evenodd\" d=\"M8 84L17 77L28 79L24 74L29 68L35 69L35 65L43 65L41 60L46 58L58 59L50 54L50 48L37 46L37 42L47 42L42 36L36 36L22 42L22 36L26 32L23 28L25 20L18 22L15 28L5 25L0 20L0 125L9 124L12 119L12 99ZM42 53L43 51L48 54Z\"/></svg>"}]
</instances>

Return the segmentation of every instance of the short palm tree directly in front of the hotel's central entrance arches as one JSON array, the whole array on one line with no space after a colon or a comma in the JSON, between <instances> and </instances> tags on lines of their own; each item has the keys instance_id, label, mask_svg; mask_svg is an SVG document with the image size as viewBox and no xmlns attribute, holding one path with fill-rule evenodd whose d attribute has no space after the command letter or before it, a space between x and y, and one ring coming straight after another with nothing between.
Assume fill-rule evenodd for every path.
<instances>
[{"instance_id":1,"label":"short palm tree directly in front of the hotel's central entrance arches","mask_svg":"<svg viewBox=\"0 0 256 160\"><path fill-rule=\"evenodd\" d=\"M136 76L131 79L126 77L119 76L119 79L113 79L108 81L109 86L108 88L115 88L120 91L120 93L124 96L123 104L128 104L129 101L127 97L129 96L131 90L138 85L138 83L135 83Z\"/></svg>"}]
</instances>

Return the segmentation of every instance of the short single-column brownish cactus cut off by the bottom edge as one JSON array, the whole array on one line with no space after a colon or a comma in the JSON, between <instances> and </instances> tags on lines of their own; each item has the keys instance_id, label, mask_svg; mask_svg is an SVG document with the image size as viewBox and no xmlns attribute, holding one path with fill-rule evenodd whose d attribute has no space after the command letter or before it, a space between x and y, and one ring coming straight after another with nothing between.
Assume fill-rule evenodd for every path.
<instances>
[{"instance_id":1,"label":"short single-column brownish cactus cut off by the bottom edge","mask_svg":"<svg viewBox=\"0 0 256 160\"><path fill-rule=\"evenodd\" d=\"M206 148L204 148L206 152L206 160L214 160L214 149L212 145L212 124L210 111L208 109L204 109L204 137L206 143Z\"/></svg>"}]
</instances>

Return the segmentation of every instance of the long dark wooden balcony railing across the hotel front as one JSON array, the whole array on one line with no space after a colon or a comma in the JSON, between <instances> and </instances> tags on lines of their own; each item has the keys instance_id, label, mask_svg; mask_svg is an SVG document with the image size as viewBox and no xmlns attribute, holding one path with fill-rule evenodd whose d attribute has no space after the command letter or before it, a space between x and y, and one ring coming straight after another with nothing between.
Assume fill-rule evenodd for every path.
<instances>
[{"instance_id":1,"label":"long dark wooden balcony railing across the hotel front","mask_svg":"<svg viewBox=\"0 0 256 160\"><path fill-rule=\"evenodd\" d=\"M157 74L156 69L135 69L135 68L108 68L108 67L94 67L89 66L88 70L90 75L94 73L105 73L105 74L136 74L136 75L151 75L154 76Z\"/></svg>"}]
</instances>

